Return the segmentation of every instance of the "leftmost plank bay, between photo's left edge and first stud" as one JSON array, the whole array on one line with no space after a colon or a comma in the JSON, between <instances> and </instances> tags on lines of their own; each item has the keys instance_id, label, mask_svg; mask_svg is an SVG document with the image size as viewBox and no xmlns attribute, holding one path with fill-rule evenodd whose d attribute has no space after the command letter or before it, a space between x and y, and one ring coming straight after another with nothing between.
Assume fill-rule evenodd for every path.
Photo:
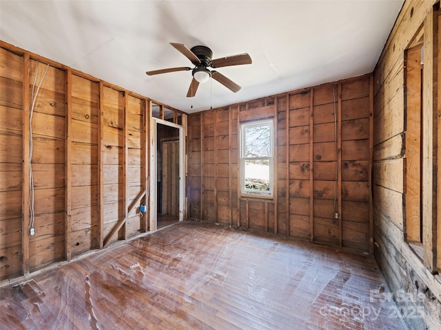
<instances>
[{"instance_id":1,"label":"leftmost plank bay, between photo's left edge and first stud","mask_svg":"<svg viewBox=\"0 0 441 330\"><path fill-rule=\"evenodd\" d=\"M22 138L23 130L29 131L29 122L23 124L23 116L29 117L29 107L23 111L23 83L28 81L24 78L24 64L29 58L25 60L23 56L0 48L0 61L0 226L4 230L1 231L0 277L3 278L22 271L21 242L24 234L21 215L22 210L25 213L29 210L22 195L22 153L28 151L29 146L23 144ZM28 173L26 178L28 183ZM29 195L29 190L26 191ZM28 250L24 252L27 257ZM23 270L28 271L28 267L23 267Z\"/></svg>"}]
</instances>

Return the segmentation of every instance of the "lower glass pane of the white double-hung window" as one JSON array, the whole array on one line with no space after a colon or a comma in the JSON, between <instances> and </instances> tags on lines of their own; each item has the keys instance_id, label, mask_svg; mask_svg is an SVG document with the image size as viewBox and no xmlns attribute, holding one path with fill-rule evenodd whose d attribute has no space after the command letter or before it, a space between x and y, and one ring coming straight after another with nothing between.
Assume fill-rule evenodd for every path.
<instances>
[{"instance_id":1,"label":"lower glass pane of the white double-hung window","mask_svg":"<svg viewBox=\"0 0 441 330\"><path fill-rule=\"evenodd\" d=\"M245 160L245 191L269 192L269 159Z\"/></svg>"}]
</instances>

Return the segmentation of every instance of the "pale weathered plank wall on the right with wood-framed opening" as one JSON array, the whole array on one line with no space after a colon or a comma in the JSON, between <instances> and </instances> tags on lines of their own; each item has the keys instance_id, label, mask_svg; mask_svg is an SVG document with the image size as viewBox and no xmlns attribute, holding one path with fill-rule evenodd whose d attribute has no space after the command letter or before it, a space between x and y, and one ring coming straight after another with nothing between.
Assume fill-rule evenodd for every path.
<instances>
[{"instance_id":1,"label":"pale weathered plank wall on the right with wood-framed opening","mask_svg":"<svg viewBox=\"0 0 441 330\"><path fill-rule=\"evenodd\" d=\"M440 17L436 1L405 1L374 71L373 212L375 256L412 329L441 329ZM433 6L435 5L435 7ZM405 52L424 30L422 148L411 144ZM418 61L419 62L419 61ZM420 63L418 63L418 68ZM420 96L418 95L418 99ZM418 105L418 113L420 112ZM406 143L407 142L407 143ZM420 152L422 161L420 163ZM407 243L407 175L422 166L422 243ZM409 167L410 166L410 167ZM437 178L438 177L438 178ZM420 183L418 179L418 184ZM407 217L408 216L408 217ZM438 228L437 228L438 226ZM418 235L420 236L420 235ZM438 238L437 238L438 237ZM438 240L438 241L437 241ZM418 250L420 250L418 252ZM398 294L400 296L398 296ZM415 312L415 313L413 313Z\"/></svg>"}]
</instances>

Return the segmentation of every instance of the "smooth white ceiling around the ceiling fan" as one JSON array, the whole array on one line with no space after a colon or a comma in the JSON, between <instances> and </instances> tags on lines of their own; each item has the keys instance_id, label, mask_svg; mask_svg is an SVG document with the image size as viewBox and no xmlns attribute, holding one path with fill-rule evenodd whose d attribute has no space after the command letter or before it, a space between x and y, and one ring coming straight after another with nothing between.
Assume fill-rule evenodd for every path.
<instances>
[{"instance_id":1,"label":"smooth white ceiling around the ceiling fan","mask_svg":"<svg viewBox=\"0 0 441 330\"><path fill-rule=\"evenodd\" d=\"M0 39L192 113L373 71L404 0L4 1ZM236 94L210 80L187 98L192 67L170 43L206 45Z\"/></svg>"}]
</instances>

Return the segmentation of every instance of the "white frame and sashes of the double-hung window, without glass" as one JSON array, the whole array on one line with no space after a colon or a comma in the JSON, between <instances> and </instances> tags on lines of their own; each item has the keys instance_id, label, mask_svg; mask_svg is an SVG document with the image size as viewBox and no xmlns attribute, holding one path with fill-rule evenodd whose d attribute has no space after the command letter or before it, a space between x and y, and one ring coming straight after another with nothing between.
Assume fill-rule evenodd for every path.
<instances>
[{"instance_id":1,"label":"white frame and sashes of the double-hung window, without glass","mask_svg":"<svg viewBox=\"0 0 441 330\"><path fill-rule=\"evenodd\" d=\"M248 127L269 126L269 156L245 156L245 130ZM252 120L240 124L240 195L254 197L274 197L274 119ZM269 190L250 191L245 189L245 162L247 160L269 160Z\"/></svg>"}]
</instances>

